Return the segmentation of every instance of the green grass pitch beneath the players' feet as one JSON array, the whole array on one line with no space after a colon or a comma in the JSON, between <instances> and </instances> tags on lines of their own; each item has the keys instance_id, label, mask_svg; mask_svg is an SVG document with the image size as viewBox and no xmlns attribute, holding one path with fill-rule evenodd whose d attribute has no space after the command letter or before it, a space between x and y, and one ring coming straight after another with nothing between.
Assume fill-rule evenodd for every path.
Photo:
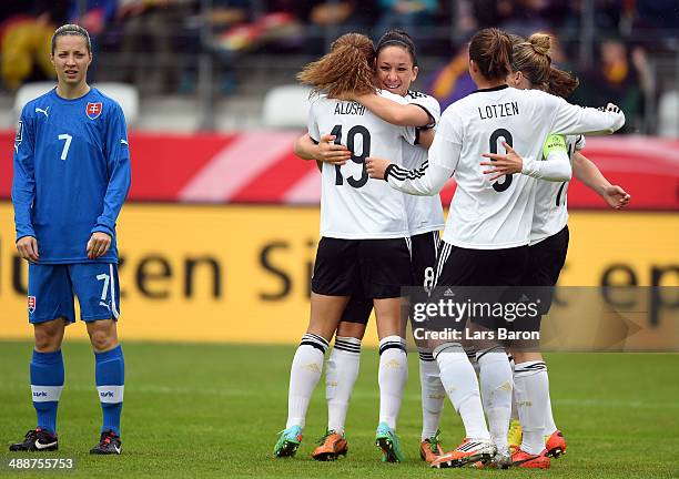
<instances>
[{"instance_id":1,"label":"green grass pitch beneath the players' feet","mask_svg":"<svg viewBox=\"0 0 679 479\"><path fill-rule=\"evenodd\" d=\"M373 444L377 425L377 354L365 349L347 418L349 453L336 462L310 457L325 428L324 387L317 387L306 436L297 457L274 459L273 445L285 424L287 377L295 346L163 345L125 343L123 455L91 457L99 437L100 407L89 345L63 346L67 383L61 397L59 452L29 457L74 457L80 477L679 477L679 355L547 355L557 424L568 453L549 471L433 470L417 455L420 428L417 356L398 434L407 460L385 465ZM30 402L31 344L0 343L0 459L7 445L34 425ZM444 446L462 439L460 421L446 402ZM43 477L10 473L0 477ZM59 477L53 472L50 477Z\"/></svg>"}]
</instances>

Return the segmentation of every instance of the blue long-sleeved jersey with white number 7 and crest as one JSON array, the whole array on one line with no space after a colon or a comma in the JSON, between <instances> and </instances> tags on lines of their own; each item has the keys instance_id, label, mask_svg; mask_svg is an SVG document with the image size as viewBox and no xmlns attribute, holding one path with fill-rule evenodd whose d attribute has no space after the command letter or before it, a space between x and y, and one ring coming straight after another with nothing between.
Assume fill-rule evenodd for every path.
<instances>
[{"instance_id":1,"label":"blue long-sleeved jersey with white number 7 and crest","mask_svg":"<svg viewBox=\"0 0 679 479\"><path fill-rule=\"evenodd\" d=\"M130 150L120 105L92 88L62 99L53 89L23 106L14 140L17 240L38 240L40 264L118 262L115 221L130 190ZM109 252L89 259L94 232Z\"/></svg>"}]
</instances>

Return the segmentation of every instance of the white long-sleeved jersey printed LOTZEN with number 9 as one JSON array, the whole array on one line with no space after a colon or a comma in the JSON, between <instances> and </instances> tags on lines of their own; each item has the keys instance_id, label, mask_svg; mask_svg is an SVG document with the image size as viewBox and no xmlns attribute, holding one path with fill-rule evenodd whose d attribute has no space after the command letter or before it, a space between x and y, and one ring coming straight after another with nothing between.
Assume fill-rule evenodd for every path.
<instances>
[{"instance_id":1,"label":"white long-sleeved jersey printed LOTZEN with number 9","mask_svg":"<svg viewBox=\"0 0 679 479\"><path fill-rule=\"evenodd\" d=\"M426 169L392 165L386 179L405 193L430 195L455 172L457 191L443 240L472 249L523 246L530 238L535 181L514 174L490 182L479 165L482 154L504 151L506 141L528 161L537 161L549 133L612 133L622 124L619 111L575 106L538 90L479 90L443 113Z\"/></svg>"}]
</instances>

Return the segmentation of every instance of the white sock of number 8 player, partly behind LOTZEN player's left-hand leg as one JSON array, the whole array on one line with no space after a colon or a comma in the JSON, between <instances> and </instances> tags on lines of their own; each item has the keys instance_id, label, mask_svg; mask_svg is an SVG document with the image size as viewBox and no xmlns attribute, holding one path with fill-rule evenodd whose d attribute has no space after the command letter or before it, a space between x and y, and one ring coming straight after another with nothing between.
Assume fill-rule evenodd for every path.
<instances>
[{"instance_id":1,"label":"white sock of number 8 player, partly behind LOTZEN player's left-hand leg","mask_svg":"<svg viewBox=\"0 0 679 479\"><path fill-rule=\"evenodd\" d=\"M422 440L436 435L446 399L438 364L429 349L419 349L419 385L422 387Z\"/></svg>"}]
</instances>

